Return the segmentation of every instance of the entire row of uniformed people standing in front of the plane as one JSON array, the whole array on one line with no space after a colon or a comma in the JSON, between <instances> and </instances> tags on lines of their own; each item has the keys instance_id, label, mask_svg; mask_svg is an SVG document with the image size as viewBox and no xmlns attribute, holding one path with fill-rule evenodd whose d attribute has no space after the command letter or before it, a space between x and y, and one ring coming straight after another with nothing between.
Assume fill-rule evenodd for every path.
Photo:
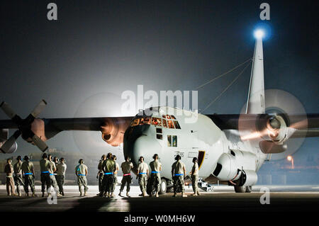
<instances>
[{"instance_id":1,"label":"entire row of uniformed people standing in front of the plane","mask_svg":"<svg viewBox=\"0 0 319 226\"><path fill-rule=\"evenodd\" d=\"M162 164L159 162L158 154L154 154L153 161L149 165L144 162L144 157L140 157L138 164L138 171L136 179L140 184L140 196L147 196L147 183L150 183L151 187L150 197L158 197L159 185L161 182L160 171L162 171ZM20 186L22 185L26 196L29 196L28 187L32 192L32 196L35 195L35 171L33 163L29 161L29 157L25 156L22 162L21 156L16 158L17 162L12 166L11 159L7 159L7 164L5 166L6 173L6 189L8 196L21 196ZM181 192L182 197L187 197L184 188L184 178L186 176L186 167L183 162L181 162L181 157L177 155L175 157L175 162L172 164L172 179L174 184L174 197L177 196L178 191ZM190 171L191 182L193 186L194 193L192 196L199 196L198 191L198 164L197 158L193 159L193 167ZM130 197L130 183L132 183L131 170L133 169L133 163L130 162L129 157L125 157L125 162L121 164L121 167L116 162L116 155L111 153L103 154L98 165L98 174L96 176L99 179L99 193L97 196L113 198L116 184L118 183L117 175L118 171L122 169L123 178L121 181L120 193L118 196L122 196L122 192L126 185L126 196ZM149 169L150 168L150 169ZM45 191L47 195L51 196L52 188L55 190L57 196L65 196L63 186L65 184L65 171L67 170L67 165L65 164L65 159L61 158L60 162L57 157L52 159L51 154L44 153L42 159L40 160L40 181L41 181L41 192L42 197L45 196ZM77 183L79 186L80 196L86 196L88 191L86 175L88 174L88 168L84 164L83 159L79 159L79 164L75 167L75 174L77 175ZM15 186L18 193L15 192ZM82 192L82 186L84 187L84 192Z\"/></svg>"}]
</instances>

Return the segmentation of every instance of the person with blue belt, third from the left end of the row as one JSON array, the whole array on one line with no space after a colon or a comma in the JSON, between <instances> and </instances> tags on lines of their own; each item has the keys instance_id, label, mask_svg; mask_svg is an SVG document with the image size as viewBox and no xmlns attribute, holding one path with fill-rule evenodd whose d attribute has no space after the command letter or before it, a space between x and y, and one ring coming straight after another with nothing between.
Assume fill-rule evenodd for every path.
<instances>
[{"instance_id":1,"label":"person with blue belt, third from the left end of the row","mask_svg":"<svg viewBox=\"0 0 319 226\"><path fill-rule=\"evenodd\" d=\"M35 195L35 187L34 187L34 166L32 162L29 162L29 157L26 155L24 158L24 162L21 165L23 178L24 178L24 191L26 191L26 196L29 196L29 186L32 191L32 197L37 197Z\"/></svg>"}]
</instances>

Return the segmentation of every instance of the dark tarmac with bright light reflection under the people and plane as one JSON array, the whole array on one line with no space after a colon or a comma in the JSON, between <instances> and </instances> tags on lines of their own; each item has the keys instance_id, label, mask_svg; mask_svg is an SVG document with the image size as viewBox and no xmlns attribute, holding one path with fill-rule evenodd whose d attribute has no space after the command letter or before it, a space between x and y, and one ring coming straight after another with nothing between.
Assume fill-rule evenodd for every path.
<instances>
[{"instance_id":1,"label":"dark tarmac with bright light reflection under the people and plane","mask_svg":"<svg viewBox=\"0 0 319 226\"><path fill-rule=\"evenodd\" d=\"M130 198L118 196L116 187L115 198L99 198L97 186L89 186L88 196L79 196L77 186L65 186L65 196L55 200L41 198L40 186L36 186L38 198L6 196L6 187L0 186L0 212L172 212L172 213L203 213L203 212L303 212L318 211L318 186L268 186L269 204L262 204L264 191L255 186L252 193L235 193L232 187L216 187L211 193L201 192L201 196L176 198L166 193L159 198L140 197L140 188L131 187ZM23 189L22 189L23 190ZM123 195L125 195L125 191ZM192 193L186 186L186 194Z\"/></svg>"}]
</instances>

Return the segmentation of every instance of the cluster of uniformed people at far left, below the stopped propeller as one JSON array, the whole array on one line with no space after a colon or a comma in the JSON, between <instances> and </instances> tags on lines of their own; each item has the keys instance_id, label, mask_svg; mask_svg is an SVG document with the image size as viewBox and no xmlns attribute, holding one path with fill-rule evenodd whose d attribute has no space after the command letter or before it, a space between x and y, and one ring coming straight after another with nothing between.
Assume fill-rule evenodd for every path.
<instances>
[{"instance_id":1,"label":"cluster of uniformed people at far left, below the stopped propeller","mask_svg":"<svg viewBox=\"0 0 319 226\"><path fill-rule=\"evenodd\" d=\"M30 158L26 155L22 162L21 156L16 158L17 162L12 166L12 160L6 160L6 166L4 172L6 173L6 191L8 196L22 196L20 186L23 186L26 196L29 195L29 186L32 192L32 197L36 197L35 194L35 170L33 162L30 162ZM55 189L57 196L64 196L63 185L65 183L65 171L67 165L65 159L61 158L60 163L57 157L52 159L51 154L44 153L40 160L40 181L42 197L45 196L45 188L47 195L51 196L52 190ZM15 186L16 185L16 191Z\"/></svg>"}]
</instances>

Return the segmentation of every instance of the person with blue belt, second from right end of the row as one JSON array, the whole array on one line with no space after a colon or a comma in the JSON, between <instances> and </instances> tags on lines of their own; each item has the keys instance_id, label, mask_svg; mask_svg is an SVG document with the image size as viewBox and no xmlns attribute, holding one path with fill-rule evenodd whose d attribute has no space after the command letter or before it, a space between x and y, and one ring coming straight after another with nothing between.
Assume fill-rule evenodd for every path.
<instances>
[{"instance_id":1,"label":"person with blue belt, second from right end of the row","mask_svg":"<svg viewBox=\"0 0 319 226\"><path fill-rule=\"evenodd\" d=\"M186 176L186 168L185 164L181 162L181 156L177 154L175 157L176 162L172 164L172 179L174 182L174 196L177 195L177 189L181 189L181 197L187 197L185 195L185 188L184 188L184 177Z\"/></svg>"}]
</instances>

